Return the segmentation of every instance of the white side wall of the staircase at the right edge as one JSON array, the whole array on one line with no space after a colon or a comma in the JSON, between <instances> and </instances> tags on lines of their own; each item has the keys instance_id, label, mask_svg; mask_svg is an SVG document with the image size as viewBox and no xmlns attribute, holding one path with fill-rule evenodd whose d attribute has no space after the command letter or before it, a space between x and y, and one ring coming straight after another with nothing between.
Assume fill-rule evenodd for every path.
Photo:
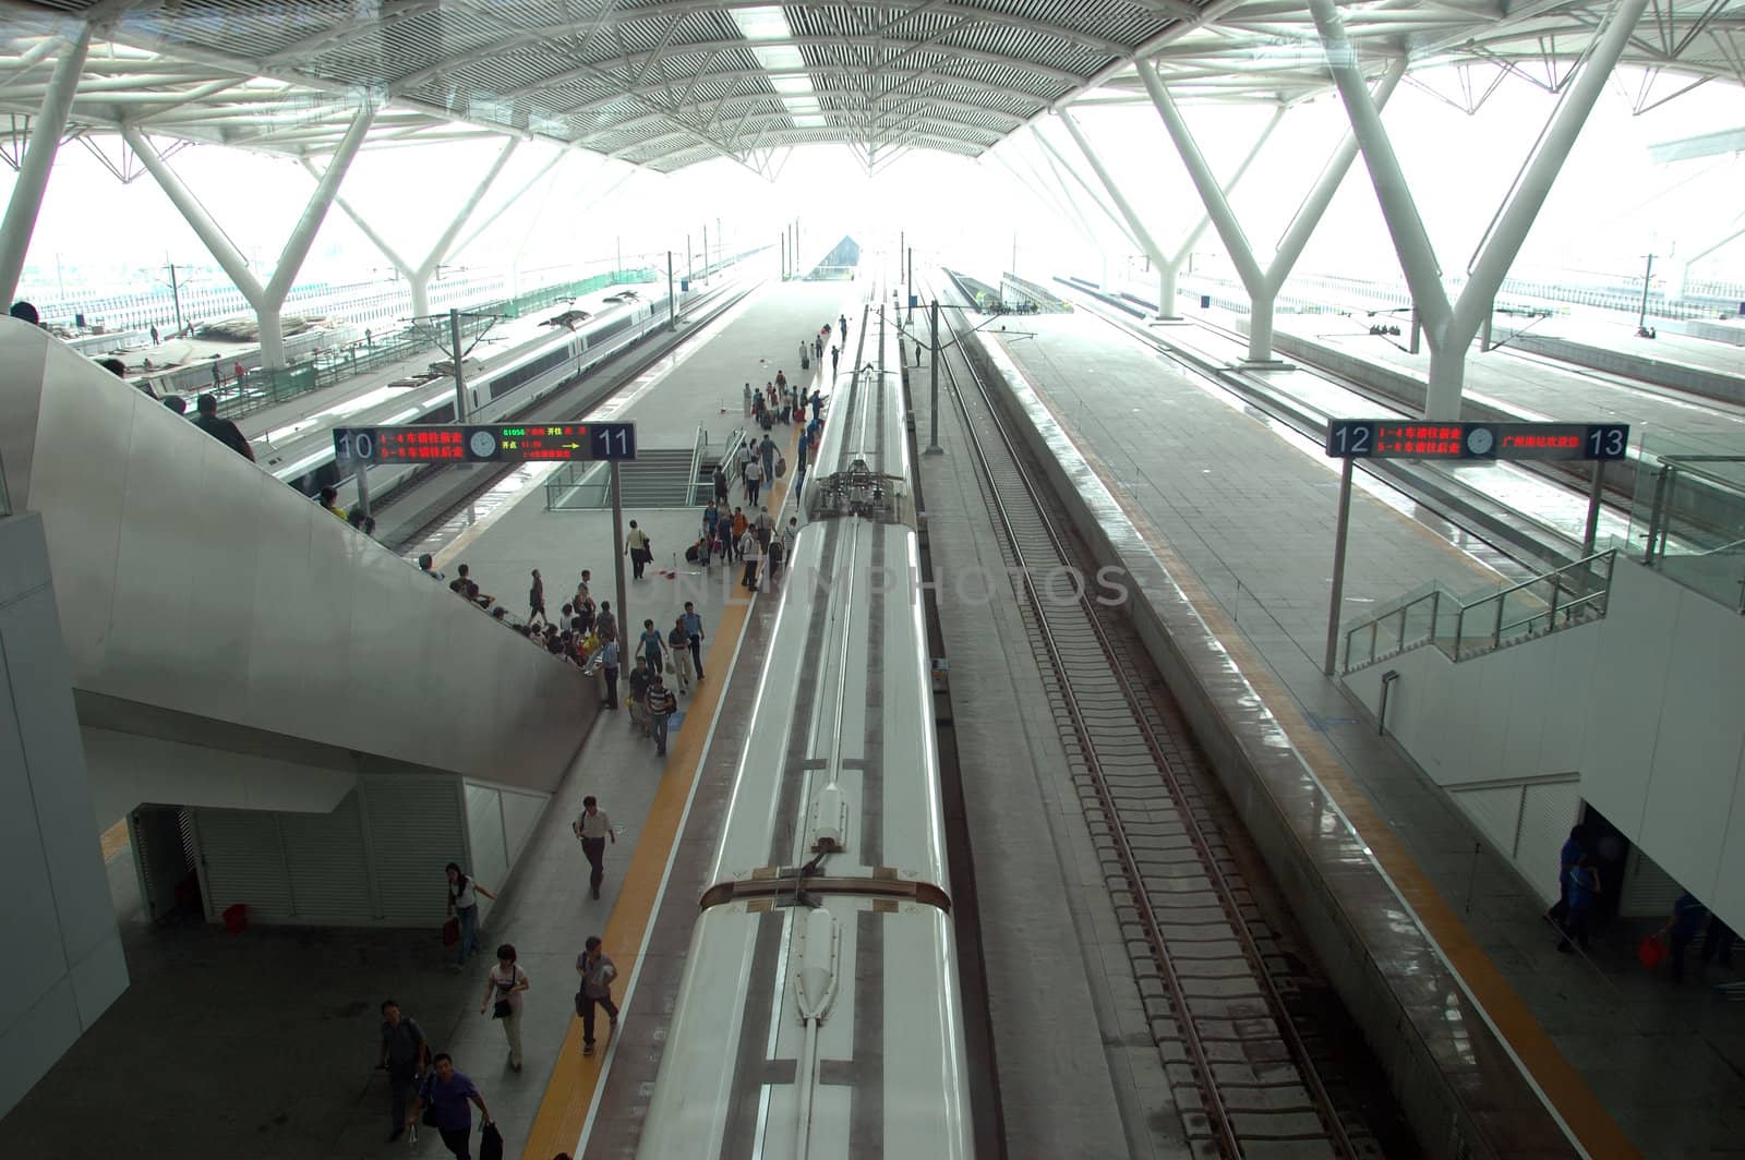
<instances>
[{"instance_id":1,"label":"white side wall of the staircase at the right edge","mask_svg":"<svg viewBox=\"0 0 1745 1160\"><path fill-rule=\"evenodd\" d=\"M1745 618L1619 562L1604 621L1452 663L1413 649L1345 679L1440 785L1577 771L1581 797L1745 925Z\"/></svg>"}]
</instances>

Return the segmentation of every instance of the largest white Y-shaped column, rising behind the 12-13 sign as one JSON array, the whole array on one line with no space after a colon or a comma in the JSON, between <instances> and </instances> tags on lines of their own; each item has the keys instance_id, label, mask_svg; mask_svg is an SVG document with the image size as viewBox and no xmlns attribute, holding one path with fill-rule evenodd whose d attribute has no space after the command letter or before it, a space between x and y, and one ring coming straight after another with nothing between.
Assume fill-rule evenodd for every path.
<instances>
[{"instance_id":1,"label":"largest white Y-shaped column, rising behind the 12-13 sign","mask_svg":"<svg viewBox=\"0 0 1745 1160\"><path fill-rule=\"evenodd\" d=\"M1508 202L1492 223L1490 237L1468 270L1461 298L1450 304L1441 284L1436 253L1429 244L1399 160L1394 157L1387 131L1382 127L1380 113L1363 85L1356 47L1345 37L1335 0L1309 0L1309 12L1321 31L1328 68L1363 148L1370 180L1375 183L1375 195L1382 204L1382 216L1387 220L1387 232L1394 239L1394 251L1399 255L1406 286L1412 288L1412 300L1424 324L1424 338L1429 342L1426 419L1454 420L1461 417L1468 347L1490 312L1502 277L1513 265L1515 255L1520 253L1522 242L1527 241L1527 232L1551 192L1551 183L1564 167L1570 147L1581 134L1581 126L1598 101L1600 91L1646 7L1647 0L1618 0L1614 3L1598 42L1590 51L1588 63L1583 65L1581 75L1576 77L1574 85L1551 113L1537 148L1515 180Z\"/></svg>"}]
</instances>

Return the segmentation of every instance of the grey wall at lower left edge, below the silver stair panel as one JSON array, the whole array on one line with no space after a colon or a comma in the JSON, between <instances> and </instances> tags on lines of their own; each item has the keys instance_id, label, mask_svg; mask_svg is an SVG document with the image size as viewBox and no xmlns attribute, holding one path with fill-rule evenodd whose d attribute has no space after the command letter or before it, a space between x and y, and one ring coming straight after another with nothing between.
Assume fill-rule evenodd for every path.
<instances>
[{"instance_id":1,"label":"grey wall at lower left edge, below the silver stair panel","mask_svg":"<svg viewBox=\"0 0 1745 1160\"><path fill-rule=\"evenodd\" d=\"M0 1113L127 989L42 518L0 516Z\"/></svg>"}]
</instances>

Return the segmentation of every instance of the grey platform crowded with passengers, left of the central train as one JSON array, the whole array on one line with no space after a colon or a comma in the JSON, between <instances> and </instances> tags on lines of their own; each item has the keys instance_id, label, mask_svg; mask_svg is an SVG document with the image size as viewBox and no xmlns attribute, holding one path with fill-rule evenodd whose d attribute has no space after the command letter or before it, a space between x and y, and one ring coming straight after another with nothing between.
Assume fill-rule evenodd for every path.
<instances>
[{"instance_id":1,"label":"grey platform crowded with passengers, left of the central train","mask_svg":"<svg viewBox=\"0 0 1745 1160\"><path fill-rule=\"evenodd\" d=\"M646 433L644 445L682 436L689 447L698 424L717 434L742 426L742 384L790 368L799 338L850 305L845 291L843 284L824 283L757 295L705 328L698 344L621 384L599 413L637 422L639 434ZM778 438L790 431L777 427ZM743 502L738 495L735 501ZM487 958L475 958L464 975L450 973L450 952L436 930L257 928L232 937L197 921L154 930L127 918L122 926L133 986L0 1122L14 1148L45 1157L138 1153L213 1160L407 1155L403 1139L384 1143L387 1082L372 1071L377 1006L393 996L421 1022L435 1050L450 1050L475 1078L503 1125L510 1155L520 1155L548 1101L548 1082L565 1045L571 1064L579 1062L571 996L581 940L602 933L625 979L632 977L642 938L635 907L646 909L654 897L688 799L691 773L682 755L710 729L715 691L731 668L738 628L750 607L733 583L738 569L733 579L722 563L712 577L658 576L675 549L682 563L681 546L698 527L700 509L632 511L626 518L639 518L656 544L649 577L626 579L632 618L640 621L658 611L667 618L663 626L670 626L682 600L696 602L705 621L708 679L681 698L665 762L651 743L630 733L623 712L600 717L510 881L487 883L501 893L482 923ZM438 567L466 560L482 586L517 616L525 612L530 567L539 567L546 579L546 605L553 614L574 591L581 567L593 570L595 600L618 604L609 511L548 513L543 488L524 487L462 525L450 542L433 544ZM754 680L756 668L750 672ZM489 673L461 661L452 672L421 679L489 687ZM489 712L489 698L480 712ZM599 902L588 898L588 867L569 832L586 794L600 797L619 829L618 843L607 848ZM122 888L133 877L129 858L126 846L110 856L112 881ZM433 865L429 874L431 890L440 891L441 867ZM635 905L626 904L625 891ZM689 905L695 914L695 897ZM681 940L688 935L686 930ZM534 984L527 993L522 1073L508 1069L501 1029L478 1015L489 952L504 940L517 945ZM215 1008L236 1012L237 1019L192 1017ZM176 1068L141 1071L141 1045L152 1045L157 1057L174 1059ZM134 1090L145 1104L115 1116L117 1090ZM190 1092L199 1094L204 1115L188 1115ZM576 1116L578 1132L579 1125ZM543 1155L574 1143L571 1134ZM440 1151L440 1141L426 1134L412 1155Z\"/></svg>"}]
</instances>

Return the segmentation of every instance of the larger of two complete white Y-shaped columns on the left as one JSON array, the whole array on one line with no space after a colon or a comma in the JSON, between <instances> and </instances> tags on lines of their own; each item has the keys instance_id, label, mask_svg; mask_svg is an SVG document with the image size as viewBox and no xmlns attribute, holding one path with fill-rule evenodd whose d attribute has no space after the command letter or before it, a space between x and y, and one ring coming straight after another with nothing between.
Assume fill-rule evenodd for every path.
<instances>
[{"instance_id":1,"label":"larger of two complete white Y-shaped columns on the left","mask_svg":"<svg viewBox=\"0 0 1745 1160\"><path fill-rule=\"evenodd\" d=\"M373 105L365 105L358 110L339 148L333 150L333 160L328 164L326 173L316 181L316 190L309 195L309 204L304 206L302 218L291 227L291 235L284 241L284 249L279 253L279 263L274 267L272 279L265 286L248 269L248 260L237 253L237 248L225 237L218 223L211 220L211 215L206 213L199 199L188 192L188 187L181 183L174 169L164 164L164 159L145 140L145 134L134 126L122 126L122 138L133 147L140 162L152 173L176 209L181 211L187 223L194 227L206 249L218 260L223 272L230 276L236 288L243 291L248 304L255 307L255 316L260 321L260 363L269 370L284 366L284 330L279 323L284 298L291 293L291 283L297 281L297 272L302 269L304 258L309 256L309 248L321 230L321 222L339 195L339 185L351 167L351 159L358 155L358 148L370 133L373 120Z\"/></svg>"}]
</instances>

